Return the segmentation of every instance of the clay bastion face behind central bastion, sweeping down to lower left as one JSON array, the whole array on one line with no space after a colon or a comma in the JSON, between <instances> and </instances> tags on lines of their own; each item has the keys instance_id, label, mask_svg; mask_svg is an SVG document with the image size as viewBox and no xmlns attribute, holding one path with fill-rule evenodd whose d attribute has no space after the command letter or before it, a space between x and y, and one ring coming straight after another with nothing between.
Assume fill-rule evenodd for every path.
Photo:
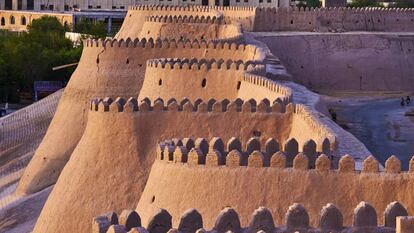
<instances>
[{"instance_id":1,"label":"clay bastion face behind central bastion, sweeping down to lower left","mask_svg":"<svg viewBox=\"0 0 414 233\"><path fill-rule=\"evenodd\" d=\"M192 48L191 43L158 42L154 45L146 43L146 40L129 43L115 40L105 42L105 46L97 41L94 46L91 41L88 43L48 132L19 183L17 193L21 195L39 191L56 182L83 134L91 98L139 95L147 59L157 58L160 54L168 57L263 59L262 52L254 46L226 44L223 48L223 44L216 43L208 48L205 44L205 47L199 48L196 43Z\"/></svg>"}]
</instances>

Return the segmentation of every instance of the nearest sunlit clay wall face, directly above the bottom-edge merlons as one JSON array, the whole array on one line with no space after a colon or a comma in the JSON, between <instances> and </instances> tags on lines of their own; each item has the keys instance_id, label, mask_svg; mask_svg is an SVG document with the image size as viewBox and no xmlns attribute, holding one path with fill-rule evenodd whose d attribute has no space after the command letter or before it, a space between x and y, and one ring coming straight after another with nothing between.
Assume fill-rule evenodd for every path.
<instances>
[{"instance_id":1,"label":"nearest sunlit clay wall face, directly above the bottom-edge merlons","mask_svg":"<svg viewBox=\"0 0 414 233\"><path fill-rule=\"evenodd\" d=\"M352 161L351 157L348 159ZM369 170L355 173L346 170L345 165L342 171L329 171L326 163L319 169L302 170L299 164L297 161L297 168L281 169L214 167L157 160L137 212L146 226L156 209L167 209L173 217L173 227L178 227L181 213L196 208L203 216L204 227L211 229L215 216L226 206L237 210L242 225L248 225L256 208L267 206L275 224L283 225L291 203L302 203L310 215L310 224L315 227L319 211L326 203L333 203L342 210L344 225L348 226L352 225L354 207L362 200L377 210L385 210L388 203L398 201L409 213L414 211L412 193L402 191L413 188L412 173L393 173L391 169L384 173ZM352 163L349 168L353 169ZM383 213L378 211L377 214L377 221L382 224Z\"/></svg>"}]
</instances>

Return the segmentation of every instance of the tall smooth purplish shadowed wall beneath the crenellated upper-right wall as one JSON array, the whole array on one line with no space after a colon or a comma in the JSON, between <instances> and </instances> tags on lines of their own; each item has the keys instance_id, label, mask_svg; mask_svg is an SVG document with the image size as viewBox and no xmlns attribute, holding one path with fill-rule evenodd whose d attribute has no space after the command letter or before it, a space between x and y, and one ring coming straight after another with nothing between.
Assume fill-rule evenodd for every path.
<instances>
[{"instance_id":1,"label":"tall smooth purplish shadowed wall beneath the crenellated upper-right wall","mask_svg":"<svg viewBox=\"0 0 414 233\"><path fill-rule=\"evenodd\" d=\"M411 91L414 88L412 35L284 33L256 39L278 55L295 82L310 89Z\"/></svg>"}]
</instances>

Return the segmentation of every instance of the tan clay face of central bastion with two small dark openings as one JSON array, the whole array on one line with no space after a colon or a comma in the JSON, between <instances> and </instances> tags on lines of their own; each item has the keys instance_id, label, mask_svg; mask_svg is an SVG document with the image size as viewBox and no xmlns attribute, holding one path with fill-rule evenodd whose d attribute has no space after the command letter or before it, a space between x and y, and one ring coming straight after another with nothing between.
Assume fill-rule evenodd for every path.
<instances>
[{"instance_id":1,"label":"tan clay face of central bastion with two small dark openings","mask_svg":"<svg viewBox=\"0 0 414 233\"><path fill-rule=\"evenodd\" d=\"M237 98L238 81L245 72L243 69L227 69L225 64L220 68L207 67L205 63L198 67L199 64L188 62L183 67L179 66L177 63L173 67L148 63L139 99L234 100Z\"/></svg>"}]
</instances>

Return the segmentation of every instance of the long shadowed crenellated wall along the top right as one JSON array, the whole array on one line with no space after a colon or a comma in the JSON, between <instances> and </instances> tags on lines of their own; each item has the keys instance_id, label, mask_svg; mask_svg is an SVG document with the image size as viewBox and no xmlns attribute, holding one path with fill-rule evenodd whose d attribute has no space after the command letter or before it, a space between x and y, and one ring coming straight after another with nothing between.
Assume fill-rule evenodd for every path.
<instances>
[{"instance_id":1,"label":"long shadowed crenellated wall along the top right","mask_svg":"<svg viewBox=\"0 0 414 233\"><path fill-rule=\"evenodd\" d=\"M414 10L396 8L258 8L254 31L412 31Z\"/></svg>"}]
</instances>

